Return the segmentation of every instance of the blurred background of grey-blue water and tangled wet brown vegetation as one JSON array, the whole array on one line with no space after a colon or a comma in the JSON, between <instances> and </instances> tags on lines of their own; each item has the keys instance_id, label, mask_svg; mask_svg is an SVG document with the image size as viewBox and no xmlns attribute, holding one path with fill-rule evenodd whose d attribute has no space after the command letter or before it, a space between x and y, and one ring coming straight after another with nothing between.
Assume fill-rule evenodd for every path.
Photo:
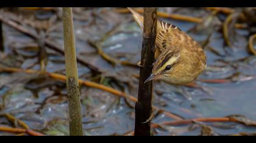
<instances>
[{"instance_id":1,"label":"blurred background of grey-blue water and tangled wet brown vegetation","mask_svg":"<svg viewBox=\"0 0 256 143\"><path fill-rule=\"evenodd\" d=\"M167 7L158 18L196 39L208 67L187 86L154 82L152 133L255 135L256 8ZM132 135L142 30L127 8L76 7L73 21L84 134ZM0 22L0 135L68 135L62 8L1 8Z\"/></svg>"}]
</instances>

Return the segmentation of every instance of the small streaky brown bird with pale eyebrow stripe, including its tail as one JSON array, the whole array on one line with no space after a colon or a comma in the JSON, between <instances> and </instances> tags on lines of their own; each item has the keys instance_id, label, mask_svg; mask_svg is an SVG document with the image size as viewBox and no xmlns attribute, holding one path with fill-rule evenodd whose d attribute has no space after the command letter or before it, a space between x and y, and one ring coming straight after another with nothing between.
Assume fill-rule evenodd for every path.
<instances>
[{"instance_id":1,"label":"small streaky brown bird with pale eyebrow stripe, including its tail","mask_svg":"<svg viewBox=\"0 0 256 143\"><path fill-rule=\"evenodd\" d=\"M129 8L133 18L143 29L143 16ZM155 63L148 79L162 79L173 85L186 85L194 81L206 67L206 56L193 38L178 27L158 19L155 40Z\"/></svg>"}]
</instances>

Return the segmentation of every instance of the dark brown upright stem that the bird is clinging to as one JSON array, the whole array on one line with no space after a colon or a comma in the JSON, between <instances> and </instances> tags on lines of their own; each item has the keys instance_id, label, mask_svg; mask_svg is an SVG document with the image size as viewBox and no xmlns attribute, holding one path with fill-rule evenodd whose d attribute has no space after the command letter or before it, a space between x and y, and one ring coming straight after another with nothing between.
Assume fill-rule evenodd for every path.
<instances>
[{"instance_id":1,"label":"dark brown upright stem that the bird is clinging to","mask_svg":"<svg viewBox=\"0 0 256 143\"><path fill-rule=\"evenodd\" d=\"M144 81L151 75L154 62L154 47L157 29L157 9L144 8L143 44L141 50L140 81L138 102L135 105L135 136L150 136L151 122L146 122L152 114L153 82Z\"/></svg>"}]
</instances>

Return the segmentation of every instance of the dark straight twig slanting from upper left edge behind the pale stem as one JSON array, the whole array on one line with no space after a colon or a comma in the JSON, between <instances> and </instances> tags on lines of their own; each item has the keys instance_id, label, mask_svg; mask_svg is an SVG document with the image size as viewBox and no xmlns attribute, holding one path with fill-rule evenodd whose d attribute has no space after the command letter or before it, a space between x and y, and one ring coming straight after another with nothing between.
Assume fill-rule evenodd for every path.
<instances>
[{"instance_id":1,"label":"dark straight twig slanting from upper left edge behind the pale stem","mask_svg":"<svg viewBox=\"0 0 256 143\"><path fill-rule=\"evenodd\" d=\"M14 22L14 21L12 21L10 19L4 18L4 16L2 14L0 15L0 21L3 22L6 25L9 25L12 28L15 28L19 32L24 33L25 35L29 36L30 38L33 38L35 40L40 39L39 35L31 32L27 28L24 28L22 25L17 24L16 22ZM44 42L45 42L45 45L48 48L51 48L55 52L58 52L58 53L64 55L64 50L60 47L59 44L57 44L55 42L52 42L49 39L45 39ZM90 64L90 63L88 63L86 61L84 61L84 59L80 58L80 56L78 56L78 55L77 55L77 62L79 62L82 65L85 65L86 67L90 68L91 70L93 70L96 73L101 72L98 67L96 67L96 66L94 66L94 65L92 65L92 64Z\"/></svg>"}]
</instances>

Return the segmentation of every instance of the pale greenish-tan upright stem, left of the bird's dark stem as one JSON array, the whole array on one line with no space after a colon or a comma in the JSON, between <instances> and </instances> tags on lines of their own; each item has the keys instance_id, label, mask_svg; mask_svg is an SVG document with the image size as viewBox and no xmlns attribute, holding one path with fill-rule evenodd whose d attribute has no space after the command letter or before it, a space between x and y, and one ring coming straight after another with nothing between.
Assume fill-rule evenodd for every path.
<instances>
[{"instance_id":1,"label":"pale greenish-tan upright stem, left of the bird's dark stem","mask_svg":"<svg viewBox=\"0 0 256 143\"><path fill-rule=\"evenodd\" d=\"M74 38L72 8L63 8L63 30L66 65L66 86L68 89L69 133L82 136L82 113L76 62L76 43Z\"/></svg>"}]
</instances>

